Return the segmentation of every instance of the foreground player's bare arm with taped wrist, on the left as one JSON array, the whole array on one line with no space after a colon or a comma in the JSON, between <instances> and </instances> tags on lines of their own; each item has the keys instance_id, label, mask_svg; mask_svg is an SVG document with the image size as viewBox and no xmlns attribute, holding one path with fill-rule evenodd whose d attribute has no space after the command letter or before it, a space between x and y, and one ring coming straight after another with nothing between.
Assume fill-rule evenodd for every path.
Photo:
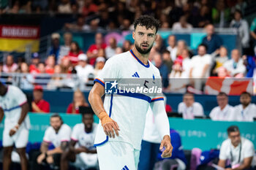
<instances>
[{"instance_id":1,"label":"foreground player's bare arm with taped wrist, on the left","mask_svg":"<svg viewBox=\"0 0 256 170\"><path fill-rule=\"evenodd\" d=\"M105 134L109 137L115 138L115 133L118 136L118 131L120 131L116 121L112 120L103 107L102 96L105 93L104 86L100 85L98 82L95 82L94 87L91 88L89 93L89 102L91 104L94 113L99 117L99 120L102 123L102 127L105 131ZM115 131L115 132L114 132Z\"/></svg>"}]
</instances>

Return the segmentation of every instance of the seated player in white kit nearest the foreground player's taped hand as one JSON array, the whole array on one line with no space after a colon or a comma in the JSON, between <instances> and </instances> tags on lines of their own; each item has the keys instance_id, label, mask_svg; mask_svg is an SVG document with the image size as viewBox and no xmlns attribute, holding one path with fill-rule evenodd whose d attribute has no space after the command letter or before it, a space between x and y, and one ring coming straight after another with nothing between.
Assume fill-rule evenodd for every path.
<instances>
[{"instance_id":1,"label":"seated player in white kit nearest the foreground player's taped hand","mask_svg":"<svg viewBox=\"0 0 256 170\"><path fill-rule=\"evenodd\" d=\"M82 123L76 124L72 130L69 149L61 155L61 170L69 169L69 161L74 162L78 169L99 169L94 147L96 131L94 113L83 113Z\"/></svg>"}]
</instances>

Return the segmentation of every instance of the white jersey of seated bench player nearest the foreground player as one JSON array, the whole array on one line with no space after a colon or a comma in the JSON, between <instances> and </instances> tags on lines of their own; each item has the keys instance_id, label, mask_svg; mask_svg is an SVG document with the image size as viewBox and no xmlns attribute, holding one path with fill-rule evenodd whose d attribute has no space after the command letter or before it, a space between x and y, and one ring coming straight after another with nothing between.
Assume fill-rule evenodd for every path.
<instances>
[{"instance_id":1,"label":"white jersey of seated bench player nearest the foreground player","mask_svg":"<svg viewBox=\"0 0 256 170\"><path fill-rule=\"evenodd\" d=\"M92 124L92 131L86 133L83 123L78 123L72 130L71 139L78 142L78 146L91 149L94 147L94 140L97 131L97 123Z\"/></svg>"}]
</instances>

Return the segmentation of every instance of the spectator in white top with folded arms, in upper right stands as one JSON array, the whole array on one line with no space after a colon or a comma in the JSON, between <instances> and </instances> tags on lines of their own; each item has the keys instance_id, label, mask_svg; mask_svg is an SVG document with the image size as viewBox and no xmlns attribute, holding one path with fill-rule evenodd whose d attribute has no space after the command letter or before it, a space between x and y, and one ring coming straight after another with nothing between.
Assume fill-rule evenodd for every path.
<instances>
[{"instance_id":1,"label":"spectator in white top with folded arms, in upper right stands","mask_svg":"<svg viewBox=\"0 0 256 170\"><path fill-rule=\"evenodd\" d=\"M224 63L224 67L231 77L244 77L246 67L244 66L244 61L241 58L239 50L232 50L231 59Z\"/></svg>"}]
</instances>

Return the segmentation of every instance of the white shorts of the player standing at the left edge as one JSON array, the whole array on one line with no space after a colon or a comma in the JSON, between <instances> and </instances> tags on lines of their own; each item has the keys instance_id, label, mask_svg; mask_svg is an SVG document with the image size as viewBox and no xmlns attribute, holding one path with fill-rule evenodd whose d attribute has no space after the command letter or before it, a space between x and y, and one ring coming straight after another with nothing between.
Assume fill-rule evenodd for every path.
<instances>
[{"instance_id":1,"label":"white shorts of the player standing at the left edge","mask_svg":"<svg viewBox=\"0 0 256 170\"><path fill-rule=\"evenodd\" d=\"M16 148L26 147L29 141L29 130L22 125L13 136L10 136L9 133L12 128L4 127L3 147L11 147L14 144Z\"/></svg>"}]
</instances>

